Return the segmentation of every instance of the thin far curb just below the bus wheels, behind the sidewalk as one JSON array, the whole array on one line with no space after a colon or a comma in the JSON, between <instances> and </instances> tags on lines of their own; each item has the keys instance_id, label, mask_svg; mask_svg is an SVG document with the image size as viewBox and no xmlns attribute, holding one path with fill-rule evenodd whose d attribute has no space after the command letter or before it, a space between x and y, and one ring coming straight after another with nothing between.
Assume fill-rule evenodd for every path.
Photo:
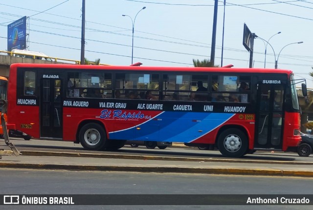
<instances>
[{"instance_id":1,"label":"thin far curb just below the bus wheels, behind the sidewalk","mask_svg":"<svg viewBox=\"0 0 313 210\"><path fill-rule=\"evenodd\" d=\"M290 164L290 165L313 165L313 162L291 162L291 161L255 161L238 159L214 159L214 158L178 158L144 155L115 155L115 154L92 154L71 152L44 152L44 151L20 151L23 156L56 156L77 158L111 158L132 160L155 160L155 161L190 161L190 162L220 162L220 163L263 163L263 164Z\"/></svg>"}]
</instances>

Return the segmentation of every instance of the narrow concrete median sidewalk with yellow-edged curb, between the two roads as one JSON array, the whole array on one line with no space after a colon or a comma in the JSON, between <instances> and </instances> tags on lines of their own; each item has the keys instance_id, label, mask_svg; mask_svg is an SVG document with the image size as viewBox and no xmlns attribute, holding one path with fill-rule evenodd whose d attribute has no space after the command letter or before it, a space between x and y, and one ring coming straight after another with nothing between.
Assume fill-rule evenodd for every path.
<instances>
[{"instance_id":1,"label":"narrow concrete median sidewalk with yellow-edged curb, between the two roads","mask_svg":"<svg viewBox=\"0 0 313 210\"><path fill-rule=\"evenodd\" d=\"M199 159L155 156L108 155L90 153L65 153L1 151L1 168L63 169L132 171L156 173L202 173L268 176L313 177L312 162L250 161L237 159Z\"/></svg>"}]
</instances>

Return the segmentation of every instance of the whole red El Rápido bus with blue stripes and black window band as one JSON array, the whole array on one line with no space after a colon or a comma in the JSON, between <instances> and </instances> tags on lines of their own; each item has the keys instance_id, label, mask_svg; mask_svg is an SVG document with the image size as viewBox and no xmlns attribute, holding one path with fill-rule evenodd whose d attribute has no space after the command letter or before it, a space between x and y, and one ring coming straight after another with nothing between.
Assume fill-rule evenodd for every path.
<instances>
[{"instance_id":1,"label":"whole red El R\u00e1pido bus with blue stripes and black window band","mask_svg":"<svg viewBox=\"0 0 313 210\"><path fill-rule=\"evenodd\" d=\"M88 150L149 140L227 157L289 151L301 140L295 83L291 70L12 64L8 123Z\"/></svg>"}]
</instances>

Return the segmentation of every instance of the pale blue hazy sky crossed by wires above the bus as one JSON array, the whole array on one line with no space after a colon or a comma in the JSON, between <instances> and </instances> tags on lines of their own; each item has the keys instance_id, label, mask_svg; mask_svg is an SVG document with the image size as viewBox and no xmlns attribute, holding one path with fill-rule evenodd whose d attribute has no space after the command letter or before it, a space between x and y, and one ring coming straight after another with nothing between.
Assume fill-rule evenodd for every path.
<instances>
[{"instance_id":1,"label":"pale blue hazy sky crossed by wires above the bus","mask_svg":"<svg viewBox=\"0 0 313 210\"><path fill-rule=\"evenodd\" d=\"M253 68L274 69L276 58L278 69L292 70L295 79L306 79L313 88L313 0L225 0L225 7L219 0L218 5L216 65L221 66L224 28L223 66L249 67L246 23L269 43L265 63L267 42L254 40ZM86 0L85 11L90 61L131 65L132 20L133 63L192 67L193 59L211 58L214 0ZM24 16L29 17L28 50L80 60L82 0L0 1L0 50L7 50L7 25ZM297 42L303 43L291 44Z\"/></svg>"}]
</instances>

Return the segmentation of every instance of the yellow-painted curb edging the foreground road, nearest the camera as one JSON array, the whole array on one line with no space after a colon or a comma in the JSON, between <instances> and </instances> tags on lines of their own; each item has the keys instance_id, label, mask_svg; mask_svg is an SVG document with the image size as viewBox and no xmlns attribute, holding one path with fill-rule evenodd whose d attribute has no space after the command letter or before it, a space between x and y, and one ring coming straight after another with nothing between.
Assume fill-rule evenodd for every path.
<instances>
[{"instance_id":1,"label":"yellow-painted curb edging the foreground road, nearest the camera","mask_svg":"<svg viewBox=\"0 0 313 210\"><path fill-rule=\"evenodd\" d=\"M80 170L80 171L123 171L146 173L196 173L226 175L261 175L261 176L297 176L313 177L313 171L268 170L241 168L184 168L184 167L145 167L145 166L93 166L93 165L61 165L34 163L0 163L4 168Z\"/></svg>"}]
</instances>

